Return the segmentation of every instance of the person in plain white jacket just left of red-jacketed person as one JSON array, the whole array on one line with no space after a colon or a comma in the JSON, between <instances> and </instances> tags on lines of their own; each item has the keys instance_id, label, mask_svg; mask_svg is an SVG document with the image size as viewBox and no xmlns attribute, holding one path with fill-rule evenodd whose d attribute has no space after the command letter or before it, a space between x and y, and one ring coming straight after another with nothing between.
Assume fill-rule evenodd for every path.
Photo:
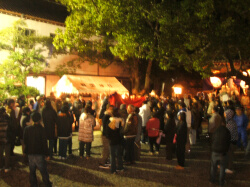
<instances>
[{"instance_id":1,"label":"person in plain white jacket just left of red-jacketed person","mask_svg":"<svg viewBox=\"0 0 250 187\"><path fill-rule=\"evenodd\" d=\"M147 101L143 102L143 105L140 107L139 115L142 117L142 143L147 142L147 133L146 133L146 124L150 119L151 111L150 107L148 106Z\"/></svg>"}]
</instances>

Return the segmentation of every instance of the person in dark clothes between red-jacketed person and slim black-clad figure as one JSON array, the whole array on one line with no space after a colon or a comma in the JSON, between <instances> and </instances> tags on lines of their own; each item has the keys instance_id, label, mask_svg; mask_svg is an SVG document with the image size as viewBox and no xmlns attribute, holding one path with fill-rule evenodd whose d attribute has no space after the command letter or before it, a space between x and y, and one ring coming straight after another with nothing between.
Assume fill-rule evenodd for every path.
<instances>
[{"instance_id":1,"label":"person in dark clothes between red-jacketed person and slim black-clad figure","mask_svg":"<svg viewBox=\"0 0 250 187\"><path fill-rule=\"evenodd\" d=\"M165 116L166 116L166 120L165 120L166 123L164 126L164 134L165 134L165 141L166 141L166 159L172 160L173 139L174 139L175 130L176 130L173 110L168 110Z\"/></svg>"}]
</instances>

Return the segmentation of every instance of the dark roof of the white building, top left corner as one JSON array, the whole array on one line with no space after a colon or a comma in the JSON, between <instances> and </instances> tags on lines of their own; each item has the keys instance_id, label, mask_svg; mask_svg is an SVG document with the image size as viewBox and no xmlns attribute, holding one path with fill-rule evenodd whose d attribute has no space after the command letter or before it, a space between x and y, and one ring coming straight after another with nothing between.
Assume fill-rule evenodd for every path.
<instances>
[{"instance_id":1,"label":"dark roof of the white building, top left corner","mask_svg":"<svg viewBox=\"0 0 250 187\"><path fill-rule=\"evenodd\" d=\"M69 15L65 6L48 0L0 0L0 12L18 13L59 23L64 23Z\"/></svg>"}]
</instances>

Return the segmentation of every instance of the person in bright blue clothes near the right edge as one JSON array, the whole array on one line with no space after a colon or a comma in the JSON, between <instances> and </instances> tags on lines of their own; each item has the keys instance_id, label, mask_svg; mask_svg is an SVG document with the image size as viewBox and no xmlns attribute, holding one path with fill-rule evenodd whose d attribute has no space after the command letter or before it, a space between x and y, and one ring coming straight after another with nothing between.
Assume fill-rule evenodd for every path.
<instances>
[{"instance_id":1,"label":"person in bright blue clothes near the right edge","mask_svg":"<svg viewBox=\"0 0 250 187\"><path fill-rule=\"evenodd\" d=\"M235 112L236 115L234 116L234 121L237 124L238 128L238 142L237 145L238 147L241 147L241 142L246 149L247 147L247 126L248 126L248 118L247 116L243 113L243 108L240 105L237 105L235 107Z\"/></svg>"}]
</instances>

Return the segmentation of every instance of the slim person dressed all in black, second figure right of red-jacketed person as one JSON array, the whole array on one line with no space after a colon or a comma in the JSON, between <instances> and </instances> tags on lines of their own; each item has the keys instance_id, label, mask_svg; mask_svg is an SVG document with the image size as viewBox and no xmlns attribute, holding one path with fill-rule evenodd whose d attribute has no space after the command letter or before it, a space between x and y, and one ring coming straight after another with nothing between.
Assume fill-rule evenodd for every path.
<instances>
[{"instance_id":1,"label":"slim person dressed all in black, second figure right of red-jacketed person","mask_svg":"<svg viewBox=\"0 0 250 187\"><path fill-rule=\"evenodd\" d=\"M185 146L187 143L187 122L185 112L178 113L178 124L176 130L176 157L178 165L176 169L184 169Z\"/></svg>"}]
</instances>

